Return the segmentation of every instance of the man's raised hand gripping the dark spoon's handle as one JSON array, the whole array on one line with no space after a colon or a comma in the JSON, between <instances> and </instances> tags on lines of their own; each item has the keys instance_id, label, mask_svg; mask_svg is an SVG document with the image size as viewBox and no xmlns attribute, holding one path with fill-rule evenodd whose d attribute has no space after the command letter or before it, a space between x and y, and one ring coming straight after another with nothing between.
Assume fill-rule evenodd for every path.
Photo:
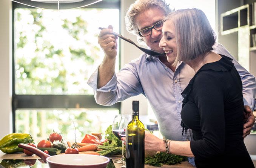
<instances>
[{"instance_id":1,"label":"man's raised hand gripping the dark spoon's handle","mask_svg":"<svg viewBox=\"0 0 256 168\"><path fill-rule=\"evenodd\" d=\"M113 35L113 27L108 26L108 29L103 29L98 36L98 43L105 52L105 56L109 59L116 58L117 55L117 37Z\"/></svg>"}]
</instances>

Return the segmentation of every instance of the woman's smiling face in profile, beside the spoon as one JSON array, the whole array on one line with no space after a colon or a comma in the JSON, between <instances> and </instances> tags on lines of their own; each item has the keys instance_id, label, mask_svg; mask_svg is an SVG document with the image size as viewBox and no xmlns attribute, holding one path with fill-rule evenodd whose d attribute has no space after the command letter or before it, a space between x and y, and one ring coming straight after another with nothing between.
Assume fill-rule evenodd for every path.
<instances>
[{"instance_id":1,"label":"woman's smiling face in profile, beside the spoon","mask_svg":"<svg viewBox=\"0 0 256 168\"><path fill-rule=\"evenodd\" d=\"M163 23L163 37L160 40L159 47L163 48L169 63L174 63L177 57L177 44L175 27L171 20L166 20Z\"/></svg>"}]
</instances>

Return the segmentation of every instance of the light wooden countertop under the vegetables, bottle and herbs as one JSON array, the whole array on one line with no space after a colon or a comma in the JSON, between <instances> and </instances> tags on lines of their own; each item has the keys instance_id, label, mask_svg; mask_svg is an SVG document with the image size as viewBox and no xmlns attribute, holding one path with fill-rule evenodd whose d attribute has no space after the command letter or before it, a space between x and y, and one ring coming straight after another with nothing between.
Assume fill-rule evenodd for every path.
<instances>
[{"instance_id":1,"label":"light wooden countertop under the vegetables, bottle and herbs","mask_svg":"<svg viewBox=\"0 0 256 168\"><path fill-rule=\"evenodd\" d=\"M40 159L40 157L38 157L36 155L27 156L24 153L5 154L2 151L0 151L0 160L2 160L2 159ZM114 160L120 159L120 157L110 156L109 159L112 159L114 161ZM121 164L114 163L114 165L116 168L120 168ZM159 167L145 165L145 168L159 168ZM176 165L163 165L163 166L161 166L161 168L194 168L194 166L191 165L188 161L185 161L185 162L181 162L181 164L176 164Z\"/></svg>"}]
</instances>

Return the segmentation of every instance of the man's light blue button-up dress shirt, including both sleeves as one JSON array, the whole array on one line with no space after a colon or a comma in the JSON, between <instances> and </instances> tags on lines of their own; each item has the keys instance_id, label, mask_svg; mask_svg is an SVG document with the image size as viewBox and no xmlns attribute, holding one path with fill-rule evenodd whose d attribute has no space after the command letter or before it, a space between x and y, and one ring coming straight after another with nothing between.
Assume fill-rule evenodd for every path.
<instances>
[{"instance_id":1,"label":"man's light blue button-up dress shirt, including both sleeves","mask_svg":"<svg viewBox=\"0 0 256 168\"><path fill-rule=\"evenodd\" d=\"M214 44L213 51L233 59L243 84L244 105L255 106L255 78L245 70L221 44ZM113 105L131 96L143 94L156 115L159 130L167 139L191 141L190 132L182 136L180 111L181 92L185 89L194 70L185 63L179 63L175 72L165 66L158 57L142 54L138 59L126 64L102 88L97 89L98 69L88 80L94 89L96 102Z\"/></svg>"}]
</instances>

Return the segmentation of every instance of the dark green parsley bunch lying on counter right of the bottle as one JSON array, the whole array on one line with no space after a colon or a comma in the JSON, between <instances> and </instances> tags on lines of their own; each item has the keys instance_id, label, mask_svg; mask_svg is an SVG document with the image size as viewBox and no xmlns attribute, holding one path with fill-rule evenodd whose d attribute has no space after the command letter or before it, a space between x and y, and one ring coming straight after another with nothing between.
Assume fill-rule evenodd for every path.
<instances>
[{"instance_id":1,"label":"dark green parsley bunch lying on counter right of the bottle","mask_svg":"<svg viewBox=\"0 0 256 168\"><path fill-rule=\"evenodd\" d=\"M160 167L162 165L175 165L187 159L188 157L185 157L185 156L159 152L159 153L156 153L153 157L151 156L146 157L145 164Z\"/></svg>"}]
</instances>

